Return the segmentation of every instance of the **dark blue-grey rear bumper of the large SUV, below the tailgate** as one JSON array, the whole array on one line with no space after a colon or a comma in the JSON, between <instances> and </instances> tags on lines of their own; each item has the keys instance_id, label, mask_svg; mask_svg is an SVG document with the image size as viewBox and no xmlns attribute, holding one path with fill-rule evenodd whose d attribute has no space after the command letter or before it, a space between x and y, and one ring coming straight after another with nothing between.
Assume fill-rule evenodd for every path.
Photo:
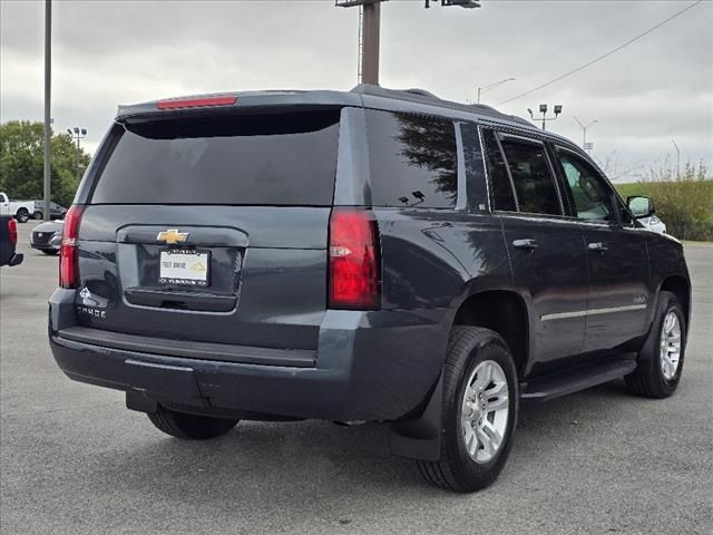
<instances>
[{"instance_id":1,"label":"dark blue-grey rear bumper of the large SUV, below the tailgate","mask_svg":"<svg viewBox=\"0 0 713 535\"><path fill-rule=\"evenodd\" d=\"M303 360L285 366L294 359L294 350L280 354L274 349L267 350L268 357L277 364L260 363L247 358L255 351L246 350L246 358L241 359L236 347L231 347L231 361L211 353L168 356L148 344L123 349L116 337L114 347L107 347L67 335L76 333L71 329L76 323L74 294L57 290L50 300L50 347L68 377L205 414L394 420L428 400L440 374L448 335L448 310L330 310L311 363ZM252 349L265 354L262 348Z\"/></svg>"}]
</instances>

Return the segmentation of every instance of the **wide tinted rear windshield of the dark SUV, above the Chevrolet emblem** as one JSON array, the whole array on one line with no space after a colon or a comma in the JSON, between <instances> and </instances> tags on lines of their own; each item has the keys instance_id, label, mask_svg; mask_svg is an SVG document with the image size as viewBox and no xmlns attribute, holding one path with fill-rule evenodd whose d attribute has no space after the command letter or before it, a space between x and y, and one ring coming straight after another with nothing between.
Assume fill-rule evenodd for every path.
<instances>
[{"instance_id":1,"label":"wide tinted rear windshield of the dark SUV, above the Chevrolet emblem","mask_svg":"<svg viewBox=\"0 0 713 535\"><path fill-rule=\"evenodd\" d=\"M332 204L339 110L119 128L94 204Z\"/></svg>"}]
</instances>

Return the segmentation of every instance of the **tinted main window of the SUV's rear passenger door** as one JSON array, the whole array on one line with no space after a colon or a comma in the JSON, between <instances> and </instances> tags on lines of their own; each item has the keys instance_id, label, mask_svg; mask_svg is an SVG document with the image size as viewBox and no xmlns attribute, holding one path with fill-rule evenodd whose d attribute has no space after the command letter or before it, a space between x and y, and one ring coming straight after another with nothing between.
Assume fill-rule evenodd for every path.
<instances>
[{"instance_id":1,"label":"tinted main window of the SUV's rear passenger door","mask_svg":"<svg viewBox=\"0 0 713 535\"><path fill-rule=\"evenodd\" d=\"M501 142L520 212L561 215L545 146L506 137Z\"/></svg>"}]
</instances>

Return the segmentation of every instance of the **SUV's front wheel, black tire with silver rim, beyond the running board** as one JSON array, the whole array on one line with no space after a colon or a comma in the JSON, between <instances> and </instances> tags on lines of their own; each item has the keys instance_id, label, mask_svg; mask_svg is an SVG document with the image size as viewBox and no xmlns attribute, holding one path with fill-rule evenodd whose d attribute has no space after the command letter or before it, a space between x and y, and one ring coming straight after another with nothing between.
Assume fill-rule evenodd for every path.
<instances>
[{"instance_id":1,"label":"SUV's front wheel, black tire with silver rim, beyond the running board","mask_svg":"<svg viewBox=\"0 0 713 535\"><path fill-rule=\"evenodd\" d=\"M685 348L686 320L683 308L673 293L661 292L651 332L638 353L636 370L624 378L628 390L636 396L654 399L673 395L681 381ZM666 358L663 357L664 352Z\"/></svg>"}]
</instances>

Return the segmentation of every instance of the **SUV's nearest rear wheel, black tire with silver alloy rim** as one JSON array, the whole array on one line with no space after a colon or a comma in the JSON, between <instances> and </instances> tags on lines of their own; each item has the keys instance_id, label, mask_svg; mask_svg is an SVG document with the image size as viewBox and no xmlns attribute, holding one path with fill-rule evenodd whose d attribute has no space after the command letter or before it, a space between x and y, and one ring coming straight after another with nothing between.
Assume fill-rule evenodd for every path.
<instances>
[{"instance_id":1,"label":"SUV's nearest rear wheel, black tire with silver alloy rim","mask_svg":"<svg viewBox=\"0 0 713 535\"><path fill-rule=\"evenodd\" d=\"M492 366L494 363L496 366ZM487 378L488 370L497 372L491 374L492 380ZM485 374L481 374L484 372ZM481 379L482 382L480 382ZM502 385L502 380L506 385ZM466 388L472 387L469 391L477 393L484 386L485 392L491 393L489 400L494 407L496 403L501 406L505 402L505 412L502 409L496 412L487 410L480 412L484 407L479 405L480 401L488 402L487 398L482 398L477 402L479 408L475 412L480 415L480 418L466 415L466 410L471 410L466 407ZM504 399L506 392L507 397ZM455 327L448 342L448 354L443 366L440 459L433 463L418 461L423 478L432 485L457 493L479 490L495 481L512 446L518 406L517 371L505 341L488 329ZM492 420L490 420L491 416ZM478 419L471 420L471 418ZM485 432L480 421L485 420L490 422L491 430L498 428L501 430L501 441L494 450L486 448L486 442L480 440ZM477 427L478 430L469 435L467 425L473 426L471 429ZM491 431L485 435L492 436ZM478 442L475 444L473 439Z\"/></svg>"}]
</instances>

